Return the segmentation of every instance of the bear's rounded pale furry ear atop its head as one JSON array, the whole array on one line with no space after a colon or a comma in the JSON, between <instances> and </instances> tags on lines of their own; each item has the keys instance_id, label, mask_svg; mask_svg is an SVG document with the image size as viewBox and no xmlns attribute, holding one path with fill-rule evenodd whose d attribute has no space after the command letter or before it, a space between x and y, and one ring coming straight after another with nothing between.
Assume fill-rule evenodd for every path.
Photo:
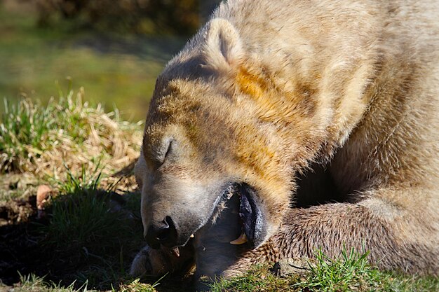
<instances>
[{"instance_id":1,"label":"bear's rounded pale furry ear atop its head","mask_svg":"<svg viewBox=\"0 0 439 292\"><path fill-rule=\"evenodd\" d=\"M243 57L241 39L235 27L222 18L214 18L205 26L203 55L208 67L237 67Z\"/></svg>"}]
</instances>

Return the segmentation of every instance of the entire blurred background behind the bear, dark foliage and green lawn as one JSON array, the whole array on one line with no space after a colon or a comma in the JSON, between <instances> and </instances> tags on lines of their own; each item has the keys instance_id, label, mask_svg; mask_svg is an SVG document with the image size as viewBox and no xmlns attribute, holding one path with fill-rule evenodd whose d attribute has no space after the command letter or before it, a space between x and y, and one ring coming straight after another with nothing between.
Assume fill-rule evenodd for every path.
<instances>
[{"instance_id":1,"label":"entire blurred background behind the bear, dark foliage and green lawn","mask_svg":"<svg viewBox=\"0 0 439 292\"><path fill-rule=\"evenodd\" d=\"M142 120L156 76L218 3L0 0L0 113L4 98L44 103L72 85Z\"/></svg>"}]
</instances>

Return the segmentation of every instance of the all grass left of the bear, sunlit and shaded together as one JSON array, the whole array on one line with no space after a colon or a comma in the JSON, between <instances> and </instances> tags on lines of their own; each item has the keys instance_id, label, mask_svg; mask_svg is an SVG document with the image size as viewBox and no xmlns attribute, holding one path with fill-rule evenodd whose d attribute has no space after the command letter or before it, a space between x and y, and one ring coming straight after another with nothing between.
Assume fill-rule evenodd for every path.
<instances>
[{"instance_id":1,"label":"all grass left of the bear, sunlit and shaded together","mask_svg":"<svg viewBox=\"0 0 439 292\"><path fill-rule=\"evenodd\" d=\"M20 291L130 283L130 260L144 244L140 194L130 193L133 174L117 174L140 153L141 123L82 97L69 88L47 106L6 102L0 120L0 181L7 181L0 190L0 233L7 235L0 242L0 269L6 267L0 274L9 283L18 281L16 270L34 274L20 279ZM41 183L58 195L36 218L32 197Z\"/></svg>"}]
</instances>

